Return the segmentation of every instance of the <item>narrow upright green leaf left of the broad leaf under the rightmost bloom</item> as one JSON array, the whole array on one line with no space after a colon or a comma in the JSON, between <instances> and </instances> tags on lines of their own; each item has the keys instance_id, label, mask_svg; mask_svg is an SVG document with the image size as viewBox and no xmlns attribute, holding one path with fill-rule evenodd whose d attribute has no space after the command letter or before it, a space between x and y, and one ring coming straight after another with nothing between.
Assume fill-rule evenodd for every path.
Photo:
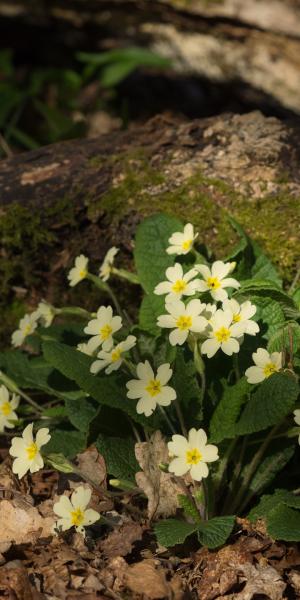
<instances>
[{"instance_id":1,"label":"narrow upright green leaf left of the broad leaf under the rightmost bloom","mask_svg":"<svg viewBox=\"0 0 300 600\"><path fill-rule=\"evenodd\" d=\"M235 385L229 386L225 381L222 383L221 400L210 422L210 441L214 444L235 437L235 424L251 389L246 377L242 377Z\"/></svg>"}]
</instances>

